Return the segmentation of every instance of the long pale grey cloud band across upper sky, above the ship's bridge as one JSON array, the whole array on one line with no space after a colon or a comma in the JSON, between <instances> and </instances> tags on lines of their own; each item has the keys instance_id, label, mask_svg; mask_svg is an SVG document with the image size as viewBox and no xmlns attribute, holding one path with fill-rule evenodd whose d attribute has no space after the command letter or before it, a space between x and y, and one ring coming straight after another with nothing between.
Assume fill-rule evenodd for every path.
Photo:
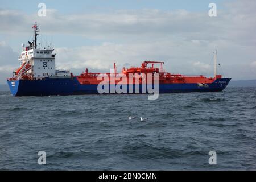
<instances>
[{"instance_id":1,"label":"long pale grey cloud band across upper sky, above the ship's bridge","mask_svg":"<svg viewBox=\"0 0 256 182\"><path fill-rule=\"evenodd\" d=\"M247 2L247 3L246 3ZM219 10L217 18L205 12L186 10L163 11L156 9L115 10L111 13L61 14L47 9L46 17L28 15L22 11L0 9L0 32L20 34L38 20L47 34L79 35L93 39L151 40L166 38L214 41L225 39L247 44L255 43L253 33L256 19L254 1L229 3L228 9ZM26 30L26 31L25 31ZM253 38L253 39L252 39Z\"/></svg>"}]
</instances>

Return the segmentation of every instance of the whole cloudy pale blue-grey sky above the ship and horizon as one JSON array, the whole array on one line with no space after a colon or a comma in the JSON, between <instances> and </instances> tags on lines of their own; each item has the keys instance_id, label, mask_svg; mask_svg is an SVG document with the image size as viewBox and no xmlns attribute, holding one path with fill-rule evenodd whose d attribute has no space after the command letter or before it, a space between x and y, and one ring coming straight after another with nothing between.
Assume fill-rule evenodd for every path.
<instances>
[{"instance_id":1,"label":"whole cloudy pale blue-grey sky above the ship and horizon","mask_svg":"<svg viewBox=\"0 0 256 182\"><path fill-rule=\"evenodd\" d=\"M46 16L38 16L39 3ZM208 14L209 3L216 3L216 17ZM57 68L75 75L156 60L167 72L213 76L217 48L219 74L256 79L254 0L0 0L0 84L19 67L34 22L38 41L55 47Z\"/></svg>"}]
</instances>

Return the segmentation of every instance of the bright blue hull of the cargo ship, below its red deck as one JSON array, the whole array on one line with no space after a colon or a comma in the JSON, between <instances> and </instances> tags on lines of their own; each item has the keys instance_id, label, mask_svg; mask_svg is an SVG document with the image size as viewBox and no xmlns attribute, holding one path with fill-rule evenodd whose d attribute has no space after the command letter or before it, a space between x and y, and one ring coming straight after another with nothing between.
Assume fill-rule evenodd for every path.
<instances>
[{"instance_id":1,"label":"bright blue hull of the cargo ship, below its red deck","mask_svg":"<svg viewBox=\"0 0 256 182\"><path fill-rule=\"evenodd\" d=\"M226 88L231 78L217 79L209 87L197 84L159 84L159 93L182 92L220 92ZM46 78L46 80L16 80L7 81L14 96L50 96L50 95L78 95L99 94L98 85L81 85L74 78ZM129 86L127 86L127 89ZM142 88L140 85L140 93ZM127 92L128 93L128 92ZM134 92L133 92L134 93Z\"/></svg>"}]
</instances>

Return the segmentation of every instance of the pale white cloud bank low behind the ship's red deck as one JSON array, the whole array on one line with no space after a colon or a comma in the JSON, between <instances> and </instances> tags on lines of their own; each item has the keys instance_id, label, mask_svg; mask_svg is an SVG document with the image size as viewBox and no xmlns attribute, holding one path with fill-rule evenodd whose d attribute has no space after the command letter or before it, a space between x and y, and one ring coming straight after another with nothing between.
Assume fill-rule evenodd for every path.
<instances>
[{"instance_id":1,"label":"pale white cloud bank low behind the ship's red deck","mask_svg":"<svg viewBox=\"0 0 256 182\"><path fill-rule=\"evenodd\" d=\"M100 72L109 72L113 68L113 63L117 63L118 71L123 67L139 66L144 60L165 61L164 69L172 73L186 73L189 75L212 76L209 62L212 61L212 52L205 52L205 57L209 60L204 63L204 59L199 58L196 52L202 49L195 47L198 42L183 42L187 47L194 47L183 55L184 47L170 47L169 42L139 43L139 44L114 44L102 43L99 46L82 46L75 48L57 48L56 63L57 68L71 69L75 73L81 72L85 68ZM171 53L167 53L171 52ZM177 53L181 56L173 56ZM72 57L72 61L70 60ZM200 61L191 61L199 59Z\"/></svg>"}]
</instances>

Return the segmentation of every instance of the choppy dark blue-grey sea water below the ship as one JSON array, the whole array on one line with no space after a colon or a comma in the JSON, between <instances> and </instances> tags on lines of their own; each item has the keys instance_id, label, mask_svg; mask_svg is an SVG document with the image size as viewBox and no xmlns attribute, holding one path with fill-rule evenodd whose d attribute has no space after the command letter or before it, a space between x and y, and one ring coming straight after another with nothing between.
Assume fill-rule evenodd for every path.
<instances>
[{"instance_id":1,"label":"choppy dark blue-grey sea water below the ship","mask_svg":"<svg viewBox=\"0 0 256 182\"><path fill-rule=\"evenodd\" d=\"M155 101L0 92L0 169L256 169L255 130L256 88ZM217 165L208 163L211 150ZM39 151L46 165L38 164Z\"/></svg>"}]
</instances>

